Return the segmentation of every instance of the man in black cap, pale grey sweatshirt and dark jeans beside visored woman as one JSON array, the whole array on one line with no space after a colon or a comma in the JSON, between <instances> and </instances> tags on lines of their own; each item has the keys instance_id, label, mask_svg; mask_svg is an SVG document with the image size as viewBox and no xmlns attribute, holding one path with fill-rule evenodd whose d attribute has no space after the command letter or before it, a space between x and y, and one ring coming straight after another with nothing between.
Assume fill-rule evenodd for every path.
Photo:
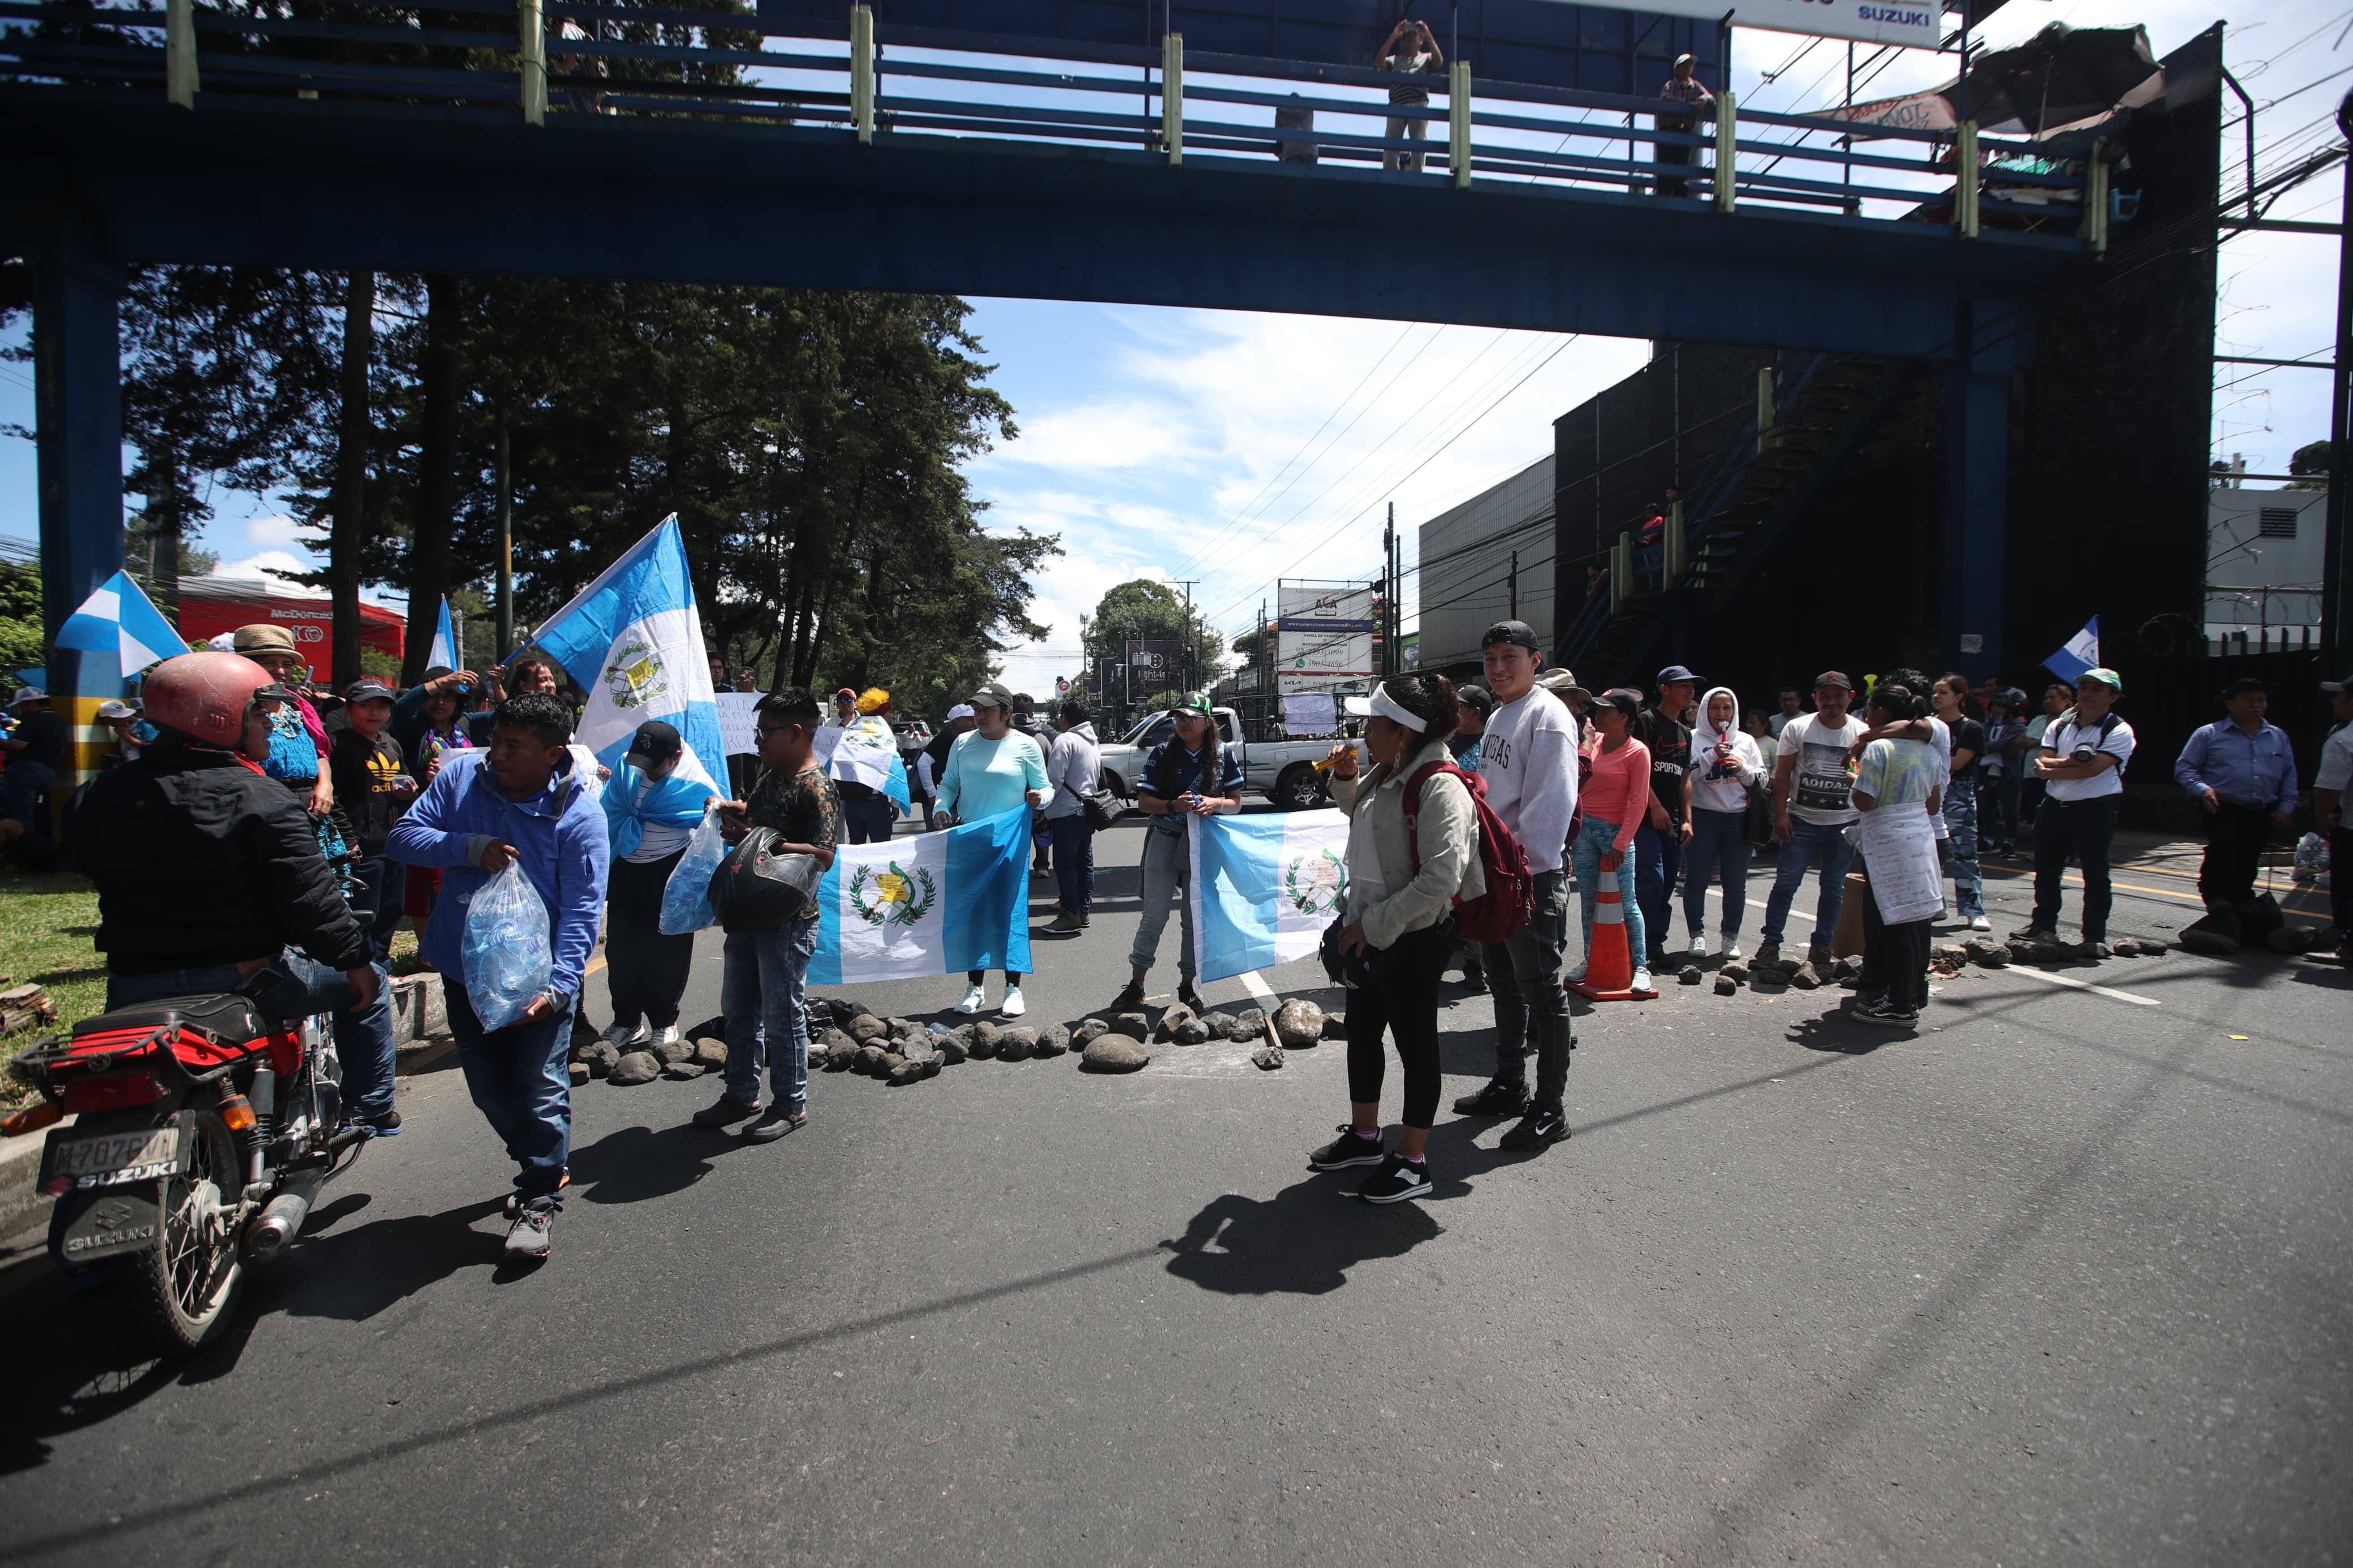
<instances>
[{"instance_id":1,"label":"man in black cap, pale grey sweatshirt and dark jeans beside visored woman","mask_svg":"<svg viewBox=\"0 0 2353 1568\"><path fill-rule=\"evenodd\" d=\"M1577 816L1577 719L1537 686L1544 651L1527 621L1497 621L1480 635L1480 663L1494 712L1478 745L1478 776L1494 811L1527 856L1534 879L1527 924L1485 943L1494 992L1494 1079L1454 1110L1466 1117L1520 1117L1501 1147L1541 1152L1569 1135L1567 1086L1569 997L1560 990L1560 954L1569 943L1569 877L1562 851ZM1537 1051L1537 1088L1527 1088L1527 1053Z\"/></svg>"}]
</instances>

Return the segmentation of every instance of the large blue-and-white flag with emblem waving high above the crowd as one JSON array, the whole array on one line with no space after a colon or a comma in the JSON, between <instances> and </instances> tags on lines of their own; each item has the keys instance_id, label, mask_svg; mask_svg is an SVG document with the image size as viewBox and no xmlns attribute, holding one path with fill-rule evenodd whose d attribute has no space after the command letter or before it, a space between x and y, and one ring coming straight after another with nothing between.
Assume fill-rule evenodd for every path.
<instances>
[{"instance_id":1,"label":"large blue-and-white flag with emblem waving high above the crowd","mask_svg":"<svg viewBox=\"0 0 2353 1568\"><path fill-rule=\"evenodd\" d=\"M588 689L572 738L598 762L621 766L638 726L664 719L687 743L675 776L722 788L720 705L675 512L548 616L534 642Z\"/></svg>"}]
</instances>

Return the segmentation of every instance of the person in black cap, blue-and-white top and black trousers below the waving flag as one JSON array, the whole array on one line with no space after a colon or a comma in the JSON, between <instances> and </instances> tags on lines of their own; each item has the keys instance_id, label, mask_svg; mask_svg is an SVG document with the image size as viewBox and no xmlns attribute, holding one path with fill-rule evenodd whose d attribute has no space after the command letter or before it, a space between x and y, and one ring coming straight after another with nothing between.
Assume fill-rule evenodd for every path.
<instances>
[{"instance_id":1,"label":"person in black cap, blue-and-white top and black trousers below the waving flag","mask_svg":"<svg viewBox=\"0 0 2353 1568\"><path fill-rule=\"evenodd\" d=\"M685 755L687 743L675 726L647 719L605 783L605 839L612 851L605 882L612 1027L605 1039L616 1051L678 1041L678 999L687 994L694 969L694 933L664 936L661 889L685 858L706 802L718 795L701 778L678 776Z\"/></svg>"}]
</instances>

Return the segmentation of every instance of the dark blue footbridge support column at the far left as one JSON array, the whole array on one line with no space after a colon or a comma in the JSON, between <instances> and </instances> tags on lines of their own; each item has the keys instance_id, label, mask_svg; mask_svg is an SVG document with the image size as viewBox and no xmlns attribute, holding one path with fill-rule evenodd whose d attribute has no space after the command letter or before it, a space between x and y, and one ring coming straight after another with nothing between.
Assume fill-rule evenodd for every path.
<instances>
[{"instance_id":1,"label":"dark blue footbridge support column at the far left","mask_svg":"<svg viewBox=\"0 0 2353 1568\"><path fill-rule=\"evenodd\" d=\"M122 571L122 268L78 212L52 212L31 244L33 423L40 487L40 611L49 637ZM99 703L122 696L113 654L49 654L49 698L73 748L56 783L96 766Z\"/></svg>"}]
</instances>

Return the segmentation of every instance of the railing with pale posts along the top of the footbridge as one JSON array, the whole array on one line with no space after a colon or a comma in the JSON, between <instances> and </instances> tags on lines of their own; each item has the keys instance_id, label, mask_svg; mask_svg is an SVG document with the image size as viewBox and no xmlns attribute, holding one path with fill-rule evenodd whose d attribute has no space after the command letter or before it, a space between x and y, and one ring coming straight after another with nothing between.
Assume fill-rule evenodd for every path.
<instances>
[{"instance_id":1,"label":"railing with pale posts along the top of the footbridge","mask_svg":"<svg viewBox=\"0 0 2353 1568\"><path fill-rule=\"evenodd\" d=\"M767 35L751 12L595 0L0 0L0 80L162 94L372 99L546 129L612 118L715 118L861 143L998 139L1285 172L1522 183L1692 212L1812 209L1974 237L2104 240L2082 162L1974 125L1861 127L1819 115L1499 82L1457 61L1369 66L1078 47L878 26L845 5L833 35ZM1421 103L1391 103L1393 89ZM1685 110L1692 118L1678 120ZM1955 179L1977 169L1977 179ZM2097 193L2085 202L2085 190Z\"/></svg>"}]
</instances>

